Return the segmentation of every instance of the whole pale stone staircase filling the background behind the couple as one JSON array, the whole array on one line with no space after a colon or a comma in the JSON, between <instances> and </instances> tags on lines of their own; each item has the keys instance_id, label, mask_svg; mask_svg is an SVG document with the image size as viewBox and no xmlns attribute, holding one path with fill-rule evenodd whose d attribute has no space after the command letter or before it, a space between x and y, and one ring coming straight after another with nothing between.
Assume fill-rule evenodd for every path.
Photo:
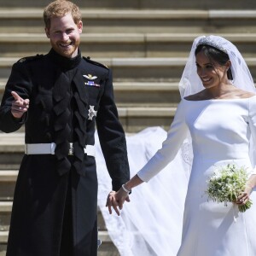
<instances>
[{"instance_id":1,"label":"whole pale stone staircase filling the background behind the couple","mask_svg":"<svg viewBox=\"0 0 256 256\"><path fill-rule=\"evenodd\" d=\"M218 34L241 50L256 78L256 2L233 0L77 0L84 17L81 50L113 70L119 117L126 132L168 128L179 102L178 80L193 39ZM48 0L2 0L0 96L20 57L47 53L43 8ZM24 130L0 133L0 256L5 255L13 191L23 154ZM117 256L98 212L99 256Z\"/></svg>"}]
</instances>

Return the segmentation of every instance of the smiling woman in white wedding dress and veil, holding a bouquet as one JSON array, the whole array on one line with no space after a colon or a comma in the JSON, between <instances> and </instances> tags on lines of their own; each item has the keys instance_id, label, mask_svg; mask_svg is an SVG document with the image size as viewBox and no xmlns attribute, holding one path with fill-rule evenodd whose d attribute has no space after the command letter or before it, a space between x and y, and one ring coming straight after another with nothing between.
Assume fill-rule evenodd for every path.
<instances>
[{"instance_id":1,"label":"smiling woman in white wedding dress and veil, holding a bouquet","mask_svg":"<svg viewBox=\"0 0 256 256\"><path fill-rule=\"evenodd\" d=\"M165 168L189 139L194 158L177 255L256 255L256 90L236 46L218 36L195 38L180 91L182 100L162 148L118 192L108 195L109 212L113 207L119 214L130 190ZM238 201L224 206L208 200L205 191L216 168L228 164L246 166L249 178ZM248 199L253 206L239 212L238 205Z\"/></svg>"}]
</instances>

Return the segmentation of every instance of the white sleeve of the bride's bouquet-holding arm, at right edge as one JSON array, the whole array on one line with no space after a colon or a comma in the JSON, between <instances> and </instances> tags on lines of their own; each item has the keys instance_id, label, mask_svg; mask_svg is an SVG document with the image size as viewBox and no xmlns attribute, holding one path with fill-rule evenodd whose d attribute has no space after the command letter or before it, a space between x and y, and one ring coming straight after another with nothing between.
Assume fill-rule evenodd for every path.
<instances>
[{"instance_id":1,"label":"white sleeve of the bride's bouquet-holding arm, at right edge","mask_svg":"<svg viewBox=\"0 0 256 256\"><path fill-rule=\"evenodd\" d=\"M252 97L249 99L249 127L251 130L251 134L252 134L252 139L251 139L251 143L253 143L253 145L250 145L250 150L252 151L252 158L253 158L253 172L251 172L251 174L256 174L256 101L255 101L255 97Z\"/></svg>"}]
</instances>

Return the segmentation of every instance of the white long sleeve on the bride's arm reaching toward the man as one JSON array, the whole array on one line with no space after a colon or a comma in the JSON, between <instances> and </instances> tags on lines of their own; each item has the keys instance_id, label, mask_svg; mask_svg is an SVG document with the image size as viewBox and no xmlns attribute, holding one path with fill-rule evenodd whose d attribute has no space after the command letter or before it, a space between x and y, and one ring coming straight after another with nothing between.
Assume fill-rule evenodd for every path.
<instances>
[{"instance_id":1,"label":"white long sleeve on the bride's arm reaching toward the man","mask_svg":"<svg viewBox=\"0 0 256 256\"><path fill-rule=\"evenodd\" d=\"M167 133L166 140L162 144L162 148L137 172L138 177L144 182L148 182L175 158L189 132L189 128L185 122L185 112L185 106L182 101L177 106L175 117Z\"/></svg>"}]
</instances>

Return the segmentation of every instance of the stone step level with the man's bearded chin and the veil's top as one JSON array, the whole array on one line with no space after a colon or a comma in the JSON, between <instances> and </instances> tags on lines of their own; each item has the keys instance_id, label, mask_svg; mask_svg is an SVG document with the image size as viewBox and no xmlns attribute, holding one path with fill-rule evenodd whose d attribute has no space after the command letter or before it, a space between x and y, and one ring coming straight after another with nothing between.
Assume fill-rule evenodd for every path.
<instances>
[{"instance_id":1,"label":"stone step level with the man's bearded chin and the veil's top","mask_svg":"<svg viewBox=\"0 0 256 256\"><path fill-rule=\"evenodd\" d=\"M208 33L204 33L207 35ZM80 49L97 57L187 57L199 33L83 33ZM256 56L256 33L220 33L240 49L244 57ZM2 57L25 57L49 52L44 33L0 33Z\"/></svg>"}]
</instances>

